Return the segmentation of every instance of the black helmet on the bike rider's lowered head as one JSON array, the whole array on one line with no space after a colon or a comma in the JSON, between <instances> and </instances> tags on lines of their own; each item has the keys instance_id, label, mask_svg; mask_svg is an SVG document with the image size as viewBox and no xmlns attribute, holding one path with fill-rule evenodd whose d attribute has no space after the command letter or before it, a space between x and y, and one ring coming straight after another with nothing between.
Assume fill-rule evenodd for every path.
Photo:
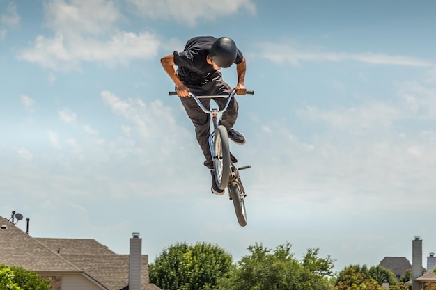
<instances>
[{"instance_id":1,"label":"black helmet on the bike rider's lowered head","mask_svg":"<svg viewBox=\"0 0 436 290\"><path fill-rule=\"evenodd\" d=\"M238 48L230 38L218 38L209 51L209 58L219 67L230 67L237 55Z\"/></svg>"}]
</instances>

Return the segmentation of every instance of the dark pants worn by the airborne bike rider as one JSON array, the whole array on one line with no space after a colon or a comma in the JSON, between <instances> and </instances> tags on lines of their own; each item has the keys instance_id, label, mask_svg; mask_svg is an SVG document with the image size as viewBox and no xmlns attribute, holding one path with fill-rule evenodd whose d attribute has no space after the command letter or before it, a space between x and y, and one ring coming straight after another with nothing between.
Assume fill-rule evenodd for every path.
<instances>
[{"instance_id":1,"label":"dark pants worn by the airborne bike rider","mask_svg":"<svg viewBox=\"0 0 436 290\"><path fill-rule=\"evenodd\" d=\"M231 87L221 77L220 72L215 72L210 78L210 81L201 86L188 86L189 91L195 95L228 95L231 92ZM181 97L185 111L188 117L192 120L195 127L198 144L203 150L205 156L204 165L209 169L213 169L212 156L210 155L209 135L210 135L210 114L204 113L192 97ZM200 99L201 103L208 110L210 109L210 99ZM214 99L218 108L221 110L226 105L226 98ZM221 115L219 124L227 129L233 128L238 117L238 102L233 97L227 110Z\"/></svg>"}]
</instances>

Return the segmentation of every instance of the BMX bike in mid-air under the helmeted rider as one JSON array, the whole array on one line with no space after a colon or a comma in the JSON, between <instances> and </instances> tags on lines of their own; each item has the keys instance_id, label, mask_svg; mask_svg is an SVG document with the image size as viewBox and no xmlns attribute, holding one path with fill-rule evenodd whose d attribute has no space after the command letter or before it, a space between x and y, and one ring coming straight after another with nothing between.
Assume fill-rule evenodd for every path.
<instances>
[{"instance_id":1,"label":"BMX bike in mid-air under the helmeted rider","mask_svg":"<svg viewBox=\"0 0 436 290\"><path fill-rule=\"evenodd\" d=\"M223 125L218 124L218 116L224 113L231 98L235 97L235 90L232 90L228 95L202 95L197 96L192 92L189 95L194 98L198 106L204 113L210 114L210 122L212 122L213 131L211 130L209 136L210 153L212 154L212 161L214 166L215 182L219 189L226 189L228 191L228 198L233 201L235 207L236 218L241 227L247 225L247 211L245 211L244 198L247 197L242 180L240 170L250 168L251 166L242 166L237 168L231 161L230 147L228 145L227 129ZM254 95L254 91L247 91L248 95ZM176 92L169 92L169 95L177 95ZM215 99L219 97L227 98L226 105L221 110L212 108L208 110L201 104L200 99Z\"/></svg>"}]
</instances>

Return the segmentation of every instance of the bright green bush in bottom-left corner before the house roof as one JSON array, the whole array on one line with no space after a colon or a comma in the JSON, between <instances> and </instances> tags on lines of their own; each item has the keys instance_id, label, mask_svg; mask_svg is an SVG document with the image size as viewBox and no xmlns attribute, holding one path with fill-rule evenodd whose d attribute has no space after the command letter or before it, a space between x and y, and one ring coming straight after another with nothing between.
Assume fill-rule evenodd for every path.
<instances>
[{"instance_id":1,"label":"bright green bush in bottom-left corner before the house roof","mask_svg":"<svg viewBox=\"0 0 436 290\"><path fill-rule=\"evenodd\" d=\"M50 281L21 267L0 265L0 290L49 290Z\"/></svg>"}]
</instances>

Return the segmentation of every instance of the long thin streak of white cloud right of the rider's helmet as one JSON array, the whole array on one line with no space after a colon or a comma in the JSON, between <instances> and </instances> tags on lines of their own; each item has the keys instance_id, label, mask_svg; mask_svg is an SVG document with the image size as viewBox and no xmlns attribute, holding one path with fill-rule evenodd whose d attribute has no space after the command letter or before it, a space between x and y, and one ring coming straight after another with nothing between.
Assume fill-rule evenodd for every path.
<instances>
[{"instance_id":1,"label":"long thin streak of white cloud right of the rider's helmet","mask_svg":"<svg viewBox=\"0 0 436 290\"><path fill-rule=\"evenodd\" d=\"M345 53L326 52L318 49L301 47L295 42L262 42L258 43L260 54L264 58L275 63L288 63L299 65L302 61L360 61L379 65L410 65L410 66L434 66L430 61L410 56L391 56L374 53Z\"/></svg>"}]
</instances>

